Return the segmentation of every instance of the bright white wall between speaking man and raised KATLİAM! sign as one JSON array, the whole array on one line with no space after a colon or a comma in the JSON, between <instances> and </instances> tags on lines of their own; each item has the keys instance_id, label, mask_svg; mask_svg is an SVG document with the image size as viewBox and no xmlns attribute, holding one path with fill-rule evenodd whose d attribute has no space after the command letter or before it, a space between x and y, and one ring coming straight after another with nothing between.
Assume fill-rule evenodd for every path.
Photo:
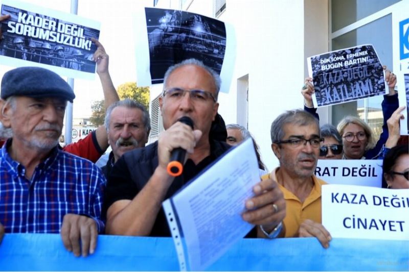
<instances>
[{"instance_id":1,"label":"bright white wall between speaking man and raised KATL\u0130AM! sign","mask_svg":"<svg viewBox=\"0 0 409 272\"><path fill-rule=\"evenodd\" d=\"M237 79L248 74L248 130L260 145L271 170L271 122L284 110L302 106L304 77L304 5L298 0L227 1L221 20L234 25L236 69L229 94L219 95L219 112L236 122Z\"/></svg>"}]
</instances>

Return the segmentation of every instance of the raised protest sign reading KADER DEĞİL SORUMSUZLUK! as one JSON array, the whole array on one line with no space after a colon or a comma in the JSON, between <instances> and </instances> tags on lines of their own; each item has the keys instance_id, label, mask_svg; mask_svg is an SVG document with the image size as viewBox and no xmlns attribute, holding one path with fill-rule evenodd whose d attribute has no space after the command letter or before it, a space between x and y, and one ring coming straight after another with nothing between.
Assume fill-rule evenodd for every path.
<instances>
[{"instance_id":1,"label":"raised protest sign reading KADER DE\u011e\u0130L SORUMSUZLUK!","mask_svg":"<svg viewBox=\"0 0 409 272\"><path fill-rule=\"evenodd\" d=\"M0 60L10 66L39 66L60 76L93 79L100 23L42 7L3 0Z\"/></svg>"}]
</instances>

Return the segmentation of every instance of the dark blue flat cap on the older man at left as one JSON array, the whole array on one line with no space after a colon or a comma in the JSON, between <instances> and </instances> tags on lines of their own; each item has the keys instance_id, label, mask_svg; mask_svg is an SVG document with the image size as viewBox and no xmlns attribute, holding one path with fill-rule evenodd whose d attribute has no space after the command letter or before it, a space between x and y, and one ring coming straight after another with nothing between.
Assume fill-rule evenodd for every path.
<instances>
[{"instance_id":1,"label":"dark blue flat cap on the older man at left","mask_svg":"<svg viewBox=\"0 0 409 272\"><path fill-rule=\"evenodd\" d=\"M6 72L2 79L1 97L58 97L73 102L73 89L55 72L40 67L19 67Z\"/></svg>"}]
</instances>

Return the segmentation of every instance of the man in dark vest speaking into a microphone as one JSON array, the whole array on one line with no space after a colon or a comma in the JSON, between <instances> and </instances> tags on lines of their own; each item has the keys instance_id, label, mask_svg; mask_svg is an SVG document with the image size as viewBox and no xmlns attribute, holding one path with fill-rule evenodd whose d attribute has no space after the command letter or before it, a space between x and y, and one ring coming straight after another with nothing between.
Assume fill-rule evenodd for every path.
<instances>
[{"instance_id":1,"label":"man in dark vest speaking into a microphone","mask_svg":"<svg viewBox=\"0 0 409 272\"><path fill-rule=\"evenodd\" d=\"M162 202L229 149L210 137L219 89L217 73L200 61L185 60L168 69L159 100L165 131L158 141L125 153L108 176L104 204L108 234L170 236ZM178 121L183 116L193 120L193 130ZM174 178L166 169L177 147L187 151L187 160L183 173ZM258 183L254 194L246 201L248 210L242 217L263 226L258 236L275 237L285 216L283 194L271 179Z\"/></svg>"}]
</instances>

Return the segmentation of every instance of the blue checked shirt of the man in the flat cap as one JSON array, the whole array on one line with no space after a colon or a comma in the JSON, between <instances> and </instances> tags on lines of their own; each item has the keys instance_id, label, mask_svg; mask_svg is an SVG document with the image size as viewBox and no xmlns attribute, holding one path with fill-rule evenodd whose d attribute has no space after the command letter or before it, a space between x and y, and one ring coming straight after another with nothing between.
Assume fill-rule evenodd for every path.
<instances>
[{"instance_id":1,"label":"blue checked shirt of the man in the flat cap","mask_svg":"<svg viewBox=\"0 0 409 272\"><path fill-rule=\"evenodd\" d=\"M7 152L11 140L0 150L0 223L6 233L59 233L67 213L93 218L103 233L101 170L55 147L28 180L25 167Z\"/></svg>"}]
</instances>

